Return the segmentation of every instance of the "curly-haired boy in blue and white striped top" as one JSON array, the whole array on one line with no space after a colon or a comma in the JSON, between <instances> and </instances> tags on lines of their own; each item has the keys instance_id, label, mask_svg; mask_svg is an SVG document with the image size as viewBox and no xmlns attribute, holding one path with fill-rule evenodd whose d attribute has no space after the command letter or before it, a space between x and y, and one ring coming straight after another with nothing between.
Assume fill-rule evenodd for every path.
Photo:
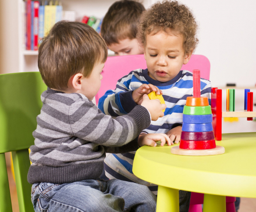
<instances>
[{"instance_id":1,"label":"curly-haired boy in blue and white striped top","mask_svg":"<svg viewBox=\"0 0 256 212\"><path fill-rule=\"evenodd\" d=\"M121 78L115 90L107 91L99 99L99 109L112 117L122 116L139 105L143 95L150 92L144 89L145 86L155 85L163 93L167 106L165 116L151 121L141 136L164 133L172 142L179 143L183 107L187 96L193 96L193 74L180 69L189 62L198 43L196 31L193 14L187 6L176 1L158 2L145 10L140 16L137 39L144 48L147 69L131 71ZM211 82L201 78L201 96L211 99L210 94ZM137 178L130 171L134 154L109 154L104 160L106 177L147 185L156 194L157 186ZM180 191L179 195L180 211L189 211L190 192Z\"/></svg>"}]
</instances>

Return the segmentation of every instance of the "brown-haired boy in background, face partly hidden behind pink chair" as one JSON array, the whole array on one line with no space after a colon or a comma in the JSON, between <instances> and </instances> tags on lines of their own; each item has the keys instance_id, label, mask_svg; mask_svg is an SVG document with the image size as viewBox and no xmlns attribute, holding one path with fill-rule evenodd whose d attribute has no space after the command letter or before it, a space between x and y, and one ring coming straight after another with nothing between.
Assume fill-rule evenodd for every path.
<instances>
[{"instance_id":1,"label":"brown-haired boy in background, face partly hidden behind pink chair","mask_svg":"<svg viewBox=\"0 0 256 212\"><path fill-rule=\"evenodd\" d=\"M136 1L116 1L106 12L101 24L101 36L116 56L140 55L143 48L138 45L137 21L144 6Z\"/></svg>"}]
</instances>

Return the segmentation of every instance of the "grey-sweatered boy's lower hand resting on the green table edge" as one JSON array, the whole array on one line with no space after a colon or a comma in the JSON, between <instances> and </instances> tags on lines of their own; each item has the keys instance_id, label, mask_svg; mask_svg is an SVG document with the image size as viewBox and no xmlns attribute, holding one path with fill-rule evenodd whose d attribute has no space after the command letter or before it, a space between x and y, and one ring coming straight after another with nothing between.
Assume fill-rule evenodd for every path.
<instances>
[{"instance_id":1,"label":"grey-sweatered boy's lower hand resting on the green table edge","mask_svg":"<svg viewBox=\"0 0 256 212\"><path fill-rule=\"evenodd\" d=\"M138 146L157 146L157 141L161 141L161 146L166 142L168 146L173 145L173 142L170 141L168 135L159 133L159 134L141 134L138 136Z\"/></svg>"}]
</instances>

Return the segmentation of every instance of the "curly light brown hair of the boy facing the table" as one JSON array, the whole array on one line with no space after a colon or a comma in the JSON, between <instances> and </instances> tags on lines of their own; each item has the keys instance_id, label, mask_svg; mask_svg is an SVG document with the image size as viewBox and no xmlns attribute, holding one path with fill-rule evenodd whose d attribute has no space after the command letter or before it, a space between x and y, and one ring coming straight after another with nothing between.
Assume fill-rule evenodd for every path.
<instances>
[{"instance_id":1,"label":"curly light brown hair of the boy facing the table","mask_svg":"<svg viewBox=\"0 0 256 212\"><path fill-rule=\"evenodd\" d=\"M163 30L170 30L173 34L183 36L183 49L185 53L194 51L198 44L196 37L197 23L187 6L177 1L165 0L157 2L145 10L138 21L137 39L142 46L146 45L147 34L157 34Z\"/></svg>"}]
</instances>

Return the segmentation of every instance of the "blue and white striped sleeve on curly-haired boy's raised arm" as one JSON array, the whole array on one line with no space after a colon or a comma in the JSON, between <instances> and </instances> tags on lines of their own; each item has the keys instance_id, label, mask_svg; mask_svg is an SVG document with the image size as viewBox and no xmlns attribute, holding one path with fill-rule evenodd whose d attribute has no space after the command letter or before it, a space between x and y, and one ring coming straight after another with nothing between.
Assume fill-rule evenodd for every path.
<instances>
[{"instance_id":1,"label":"blue and white striped sleeve on curly-haired boy's raised arm","mask_svg":"<svg viewBox=\"0 0 256 212\"><path fill-rule=\"evenodd\" d=\"M115 90L106 91L105 95L99 98L98 107L106 115L112 117L123 116L130 113L137 106L129 88L132 72L118 80Z\"/></svg>"}]
</instances>

